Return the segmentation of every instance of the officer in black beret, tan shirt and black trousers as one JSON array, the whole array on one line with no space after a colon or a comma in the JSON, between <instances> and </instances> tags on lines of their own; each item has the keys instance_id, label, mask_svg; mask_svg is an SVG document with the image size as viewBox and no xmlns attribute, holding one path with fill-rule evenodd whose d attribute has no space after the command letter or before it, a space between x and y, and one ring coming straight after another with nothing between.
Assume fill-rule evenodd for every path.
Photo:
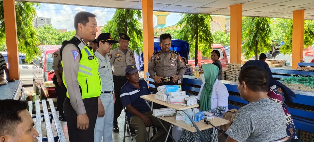
<instances>
[{"instance_id":1,"label":"officer in black beret, tan shirt and black trousers","mask_svg":"<svg viewBox=\"0 0 314 142\"><path fill-rule=\"evenodd\" d=\"M115 85L116 102L113 107L113 132L119 132L118 117L123 109L120 100L120 89L127 82L124 68L129 64L135 64L134 52L128 48L130 37L124 33L119 33L119 47L111 50L109 55L113 68L113 82Z\"/></svg>"}]
</instances>

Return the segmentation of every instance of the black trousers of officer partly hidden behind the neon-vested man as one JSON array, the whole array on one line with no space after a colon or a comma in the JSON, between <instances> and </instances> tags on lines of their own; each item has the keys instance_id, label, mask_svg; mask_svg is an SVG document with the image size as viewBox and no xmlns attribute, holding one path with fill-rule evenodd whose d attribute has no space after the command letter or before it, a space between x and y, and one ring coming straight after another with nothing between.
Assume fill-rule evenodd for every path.
<instances>
[{"instance_id":1,"label":"black trousers of officer partly hidden behind the neon-vested man","mask_svg":"<svg viewBox=\"0 0 314 142\"><path fill-rule=\"evenodd\" d=\"M62 77L62 74L59 74ZM62 78L61 78L62 79ZM53 75L52 82L56 85L56 95L57 95L57 110L59 111L60 116L64 116L63 114L63 103L64 99L67 96L67 88L65 85L58 85L56 75Z\"/></svg>"}]
</instances>

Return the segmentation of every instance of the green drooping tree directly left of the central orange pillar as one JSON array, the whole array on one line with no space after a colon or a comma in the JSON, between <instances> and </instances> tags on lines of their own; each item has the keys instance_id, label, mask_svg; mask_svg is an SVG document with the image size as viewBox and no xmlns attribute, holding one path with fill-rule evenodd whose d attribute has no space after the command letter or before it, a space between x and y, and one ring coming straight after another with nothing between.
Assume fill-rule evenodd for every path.
<instances>
[{"instance_id":1,"label":"green drooping tree directly left of the central orange pillar","mask_svg":"<svg viewBox=\"0 0 314 142\"><path fill-rule=\"evenodd\" d=\"M129 48L135 52L143 50L143 25L139 22L142 17L140 10L116 9L111 20L108 20L101 32L110 33L115 40L119 39L119 33L125 33L130 37ZM118 47L113 44L112 48Z\"/></svg>"}]
</instances>

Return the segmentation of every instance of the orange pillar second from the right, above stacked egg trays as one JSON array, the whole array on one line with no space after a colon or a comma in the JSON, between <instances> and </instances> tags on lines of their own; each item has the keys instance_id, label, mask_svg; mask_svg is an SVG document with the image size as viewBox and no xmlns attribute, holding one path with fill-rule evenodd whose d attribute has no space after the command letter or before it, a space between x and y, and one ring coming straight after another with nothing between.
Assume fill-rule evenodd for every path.
<instances>
[{"instance_id":1,"label":"orange pillar second from the right, above stacked egg trays","mask_svg":"<svg viewBox=\"0 0 314 142\"><path fill-rule=\"evenodd\" d=\"M242 4L230 7L230 63L241 64Z\"/></svg>"}]
</instances>

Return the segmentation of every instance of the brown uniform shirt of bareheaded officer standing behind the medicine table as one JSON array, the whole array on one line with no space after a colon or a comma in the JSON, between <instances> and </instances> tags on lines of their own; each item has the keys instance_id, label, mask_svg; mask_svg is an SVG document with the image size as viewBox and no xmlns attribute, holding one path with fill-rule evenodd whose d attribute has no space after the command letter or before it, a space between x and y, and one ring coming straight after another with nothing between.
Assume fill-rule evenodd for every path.
<instances>
[{"instance_id":1,"label":"brown uniform shirt of bareheaded officer standing behind the medicine table","mask_svg":"<svg viewBox=\"0 0 314 142\"><path fill-rule=\"evenodd\" d=\"M156 68L156 73L154 69ZM179 70L179 73L178 73ZM162 50L154 52L148 63L148 72L151 77L155 75L161 77L171 77L177 75L179 79L183 79L185 65L178 52L170 50L166 54Z\"/></svg>"}]
</instances>

